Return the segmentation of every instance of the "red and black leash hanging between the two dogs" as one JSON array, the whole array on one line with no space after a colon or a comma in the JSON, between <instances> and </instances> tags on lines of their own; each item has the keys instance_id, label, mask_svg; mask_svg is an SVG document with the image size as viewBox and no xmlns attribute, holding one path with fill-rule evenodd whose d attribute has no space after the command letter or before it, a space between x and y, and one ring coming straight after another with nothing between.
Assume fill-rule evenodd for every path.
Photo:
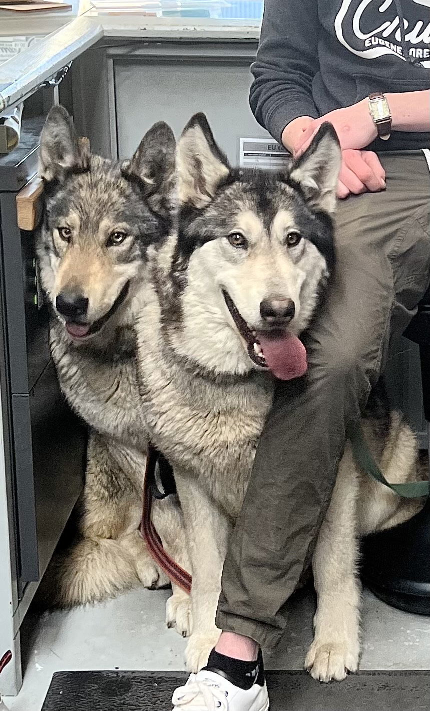
<instances>
[{"instance_id":1,"label":"red and black leash hanging between the two dogs","mask_svg":"<svg viewBox=\"0 0 430 711\"><path fill-rule=\"evenodd\" d=\"M161 567L171 582L181 587L184 592L190 594L191 591L191 576L186 570L183 570L173 558L164 550L161 538L156 532L154 523L151 520L152 503L154 501L154 493L152 483L155 481L155 469L158 461L158 451L150 444L148 447L148 456L146 457L145 480L144 480L144 507L142 511L140 533L144 538L151 556L156 564Z\"/></svg>"}]
</instances>

